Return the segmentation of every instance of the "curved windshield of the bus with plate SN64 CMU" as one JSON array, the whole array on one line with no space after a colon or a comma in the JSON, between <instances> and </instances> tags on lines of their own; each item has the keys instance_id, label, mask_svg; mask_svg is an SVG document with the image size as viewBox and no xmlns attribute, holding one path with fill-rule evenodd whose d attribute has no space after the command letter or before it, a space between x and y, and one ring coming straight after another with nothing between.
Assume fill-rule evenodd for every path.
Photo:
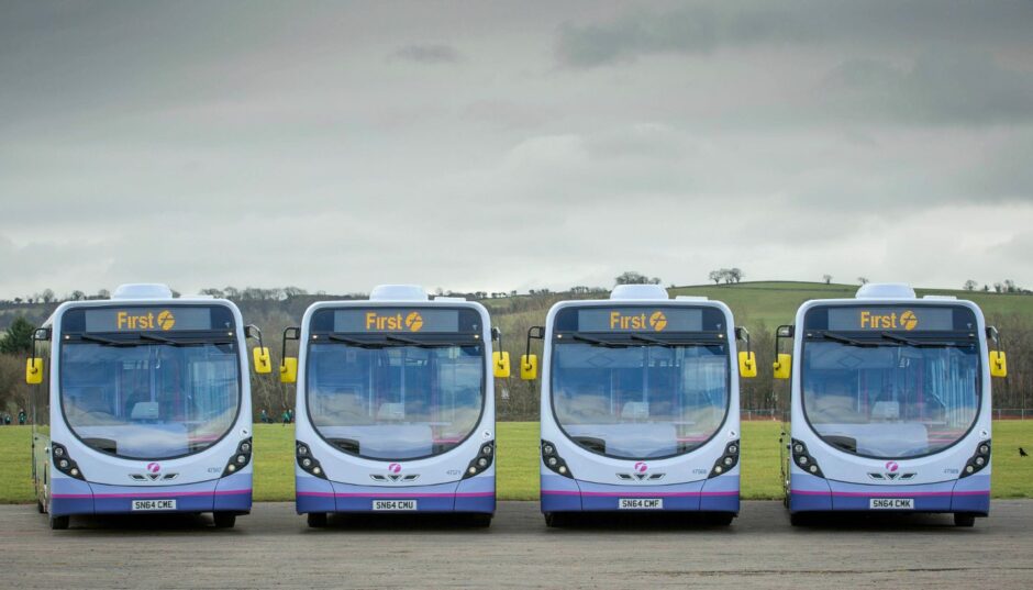
<instances>
[{"instance_id":1,"label":"curved windshield of the bus with plate SN64 CMU","mask_svg":"<svg viewBox=\"0 0 1033 590\"><path fill-rule=\"evenodd\" d=\"M312 425L335 447L379 460L429 457L477 427L484 347L312 344L306 381Z\"/></svg>"}]
</instances>

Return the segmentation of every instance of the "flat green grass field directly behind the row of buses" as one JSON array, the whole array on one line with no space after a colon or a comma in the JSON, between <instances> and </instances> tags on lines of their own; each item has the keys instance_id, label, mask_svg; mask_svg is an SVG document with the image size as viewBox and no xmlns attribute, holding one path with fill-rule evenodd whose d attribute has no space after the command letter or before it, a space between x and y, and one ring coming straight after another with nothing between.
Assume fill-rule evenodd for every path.
<instances>
[{"instance_id":1,"label":"flat green grass field directly behind the row of buses","mask_svg":"<svg viewBox=\"0 0 1033 590\"><path fill-rule=\"evenodd\" d=\"M538 498L538 424L501 422L498 425L498 491L501 500ZM778 435L780 424L743 424L743 498L779 498ZM292 427L255 426L255 500L295 499ZM993 497L1033 498L1033 457L1020 457L1019 447L1033 452L1033 421L993 424ZM32 502L29 426L0 427L0 503Z\"/></svg>"}]
</instances>

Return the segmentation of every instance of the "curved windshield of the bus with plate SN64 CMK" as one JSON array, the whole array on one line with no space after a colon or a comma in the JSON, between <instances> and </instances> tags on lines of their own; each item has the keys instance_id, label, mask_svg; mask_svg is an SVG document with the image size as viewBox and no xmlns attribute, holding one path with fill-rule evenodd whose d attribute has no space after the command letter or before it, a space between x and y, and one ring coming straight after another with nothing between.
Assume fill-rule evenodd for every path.
<instances>
[{"instance_id":1,"label":"curved windshield of the bus with plate SN64 CMK","mask_svg":"<svg viewBox=\"0 0 1033 590\"><path fill-rule=\"evenodd\" d=\"M980 400L973 342L806 342L803 410L829 444L874 458L929 455L959 441Z\"/></svg>"}]
</instances>

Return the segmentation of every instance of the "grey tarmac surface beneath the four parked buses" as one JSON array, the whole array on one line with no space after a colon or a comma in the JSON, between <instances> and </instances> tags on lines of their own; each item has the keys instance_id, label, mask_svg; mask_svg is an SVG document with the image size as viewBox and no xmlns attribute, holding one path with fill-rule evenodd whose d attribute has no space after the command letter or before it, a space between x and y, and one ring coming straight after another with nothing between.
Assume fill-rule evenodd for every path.
<instances>
[{"instance_id":1,"label":"grey tarmac surface beneath the four parked buses","mask_svg":"<svg viewBox=\"0 0 1033 590\"><path fill-rule=\"evenodd\" d=\"M949 515L824 519L799 528L779 502L744 502L727 527L656 515L547 528L536 502L501 502L490 528L440 517L336 519L309 528L292 503L210 515L73 517L0 506L0 588L1033 588L1033 500Z\"/></svg>"}]
</instances>

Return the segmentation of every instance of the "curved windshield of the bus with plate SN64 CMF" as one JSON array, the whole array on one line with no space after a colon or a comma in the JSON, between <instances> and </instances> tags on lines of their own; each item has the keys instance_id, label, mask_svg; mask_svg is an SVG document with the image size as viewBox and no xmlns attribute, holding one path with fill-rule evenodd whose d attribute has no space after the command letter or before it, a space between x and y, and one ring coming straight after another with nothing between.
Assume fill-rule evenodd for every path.
<instances>
[{"instance_id":1,"label":"curved windshield of the bus with plate SN64 CMF","mask_svg":"<svg viewBox=\"0 0 1033 590\"><path fill-rule=\"evenodd\" d=\"M729 355L721 345L556 343L553 412L581 447L644 459L689 453L721 427Z\"/></svg>"}]
</instances>

